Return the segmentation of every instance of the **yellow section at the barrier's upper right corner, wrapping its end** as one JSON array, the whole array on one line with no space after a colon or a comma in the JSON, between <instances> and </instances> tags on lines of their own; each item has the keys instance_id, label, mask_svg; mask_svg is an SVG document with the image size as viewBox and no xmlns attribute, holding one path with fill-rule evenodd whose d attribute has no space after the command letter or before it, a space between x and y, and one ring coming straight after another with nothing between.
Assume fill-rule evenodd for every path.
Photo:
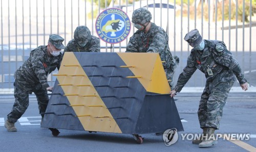
<instances>
[{"instance_id":1,"label":"yellow section at the barrier's upper right corner, wrapping its end","mask_svg":"<svg viewBox=\"0 0 256 152\"><path fill-rule=\"evenodd\" d=\"M129 67L135 76L128 78L138 78L147 92L158 94L168 94L170 86L168 84L163 64L158 53L117 53Z\"/></svg>"}]
</instances>

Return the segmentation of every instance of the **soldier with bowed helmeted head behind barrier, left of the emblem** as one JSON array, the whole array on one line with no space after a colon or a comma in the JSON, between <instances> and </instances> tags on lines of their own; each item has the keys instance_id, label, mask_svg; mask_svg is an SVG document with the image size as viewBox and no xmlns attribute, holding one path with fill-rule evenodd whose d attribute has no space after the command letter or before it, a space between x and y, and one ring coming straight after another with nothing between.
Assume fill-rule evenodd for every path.
<instances>
[{"instance_id":1,"label":"soldier with bowed helmeted head behind barrier, left of the emblem","mask_svg":"<svg viewBox=\"0 0 256 152\"><path fill-rule=\"evenodd\" d=\"M79 26L74 32L74 39L70 40L64 52L100 52L100 41L86 26Z\"/></svg>"}]
</instances>

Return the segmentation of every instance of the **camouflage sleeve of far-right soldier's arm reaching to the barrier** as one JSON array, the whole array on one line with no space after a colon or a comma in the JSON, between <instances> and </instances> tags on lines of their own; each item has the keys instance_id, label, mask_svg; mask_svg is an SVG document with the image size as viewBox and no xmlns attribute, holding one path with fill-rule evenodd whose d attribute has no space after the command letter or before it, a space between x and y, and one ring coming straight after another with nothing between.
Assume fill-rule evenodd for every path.
<instances>
[{"instance_id":1,"label":"camouflage sleeve of far-right soldier's arm reaching to the barrier","mask_svg":"<svg viewBox=\"0 0 256 152\"><path fill-rule=\"evenodd\" d=\"M192 54L190 54L187 58L187 65L183 69L183 72L180 74L177 84L174 88L176 92L180 92L190 77L195 73L197 70L196 67L196 60Z\"/></svg>"}]
</instances>

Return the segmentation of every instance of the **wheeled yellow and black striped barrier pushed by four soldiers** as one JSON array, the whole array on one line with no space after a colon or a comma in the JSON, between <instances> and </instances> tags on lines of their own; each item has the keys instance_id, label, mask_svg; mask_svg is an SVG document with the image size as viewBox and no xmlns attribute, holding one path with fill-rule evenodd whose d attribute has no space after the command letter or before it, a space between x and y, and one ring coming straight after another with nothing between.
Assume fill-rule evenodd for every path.
<instances>
[{"instance_id":1,"label":"wheeled yellow and black striped barrier pushed by four soldiers","mask_svg":"<svg viewBox=\"0 0 256 152\"><path fill-rule=\"evenodd\" d=\"M158 53L66 52L41 127L123 134L183 131Z\"/></svg>"}]
</instances>

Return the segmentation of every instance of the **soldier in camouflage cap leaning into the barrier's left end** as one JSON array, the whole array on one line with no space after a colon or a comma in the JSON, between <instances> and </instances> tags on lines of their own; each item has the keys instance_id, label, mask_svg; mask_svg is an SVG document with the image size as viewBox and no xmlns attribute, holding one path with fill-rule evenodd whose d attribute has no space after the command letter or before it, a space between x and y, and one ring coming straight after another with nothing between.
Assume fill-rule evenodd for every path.
<instances>
[{"instance_id":1,"label":"soldier in camouflage cap leaning into the barrier's left end","mask_svg":"<svg viewBox=\"0 0 256 152\"><path fill-rule=\"evenodd\" d=\"M45 113L49 97L47 91L52 91L53 86L47 83L48 75L56 68L59 69L62 60L61 49L64 39L59 35L52 34L47 46L39 46L32 50L28 60L17 69L14 74L14 97L15 102L12 111L7 115L5 127L8 132L16 132L14 123L22 117L29 106L29 94L36 95L40 113ZM44 115L41 114L44 118Z\"/></svg>"}]
</instances>

